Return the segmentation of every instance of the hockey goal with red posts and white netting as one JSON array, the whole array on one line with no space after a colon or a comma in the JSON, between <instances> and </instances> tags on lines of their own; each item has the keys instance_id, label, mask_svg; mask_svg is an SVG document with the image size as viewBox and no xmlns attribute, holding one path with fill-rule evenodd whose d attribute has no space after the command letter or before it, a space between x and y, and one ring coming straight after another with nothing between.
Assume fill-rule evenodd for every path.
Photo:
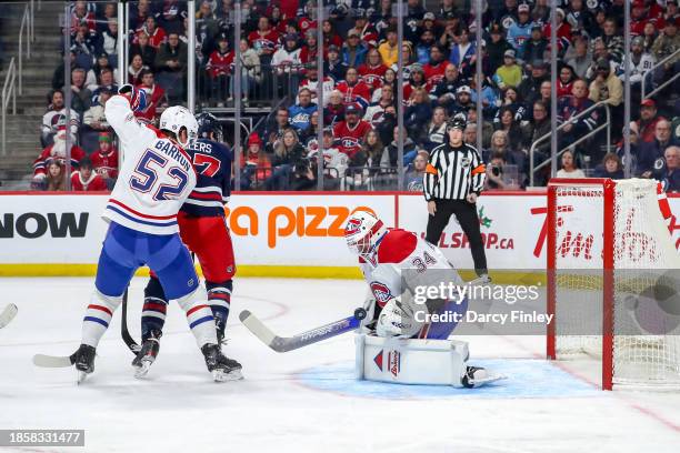
<instances>
[{"instance_id":1,"label":"hockey goal with red posts and white netting","mask_svg":"<svg viewBox=\"0 0 680 453\"><path fill-rule=\"evenodd\" d=\"M656 181L551 180L549 359L596 359L606 390L680 385L679 275Z\"/></svg>"}]
</instances>

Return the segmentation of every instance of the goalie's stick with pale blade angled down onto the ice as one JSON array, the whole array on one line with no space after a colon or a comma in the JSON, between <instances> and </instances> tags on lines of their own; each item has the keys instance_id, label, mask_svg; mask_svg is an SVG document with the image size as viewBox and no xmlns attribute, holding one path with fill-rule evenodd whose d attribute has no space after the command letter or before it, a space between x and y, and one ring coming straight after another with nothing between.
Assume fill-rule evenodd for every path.
<instances>
[{"instance_id":1,"label":"goalie's stick with pale blade angled down onto the ice","mask_svg":"<svg viewBox=\"0 0 680 453\"><path fill-rule=\"evenodd\" d=\"M293 336L279 336L274 334L262 323L262 321L257 319L256 315L248 310L243 310L239 313L239 319L248 330L262 341L262 343L277 352L288 352L354 330L359 326L361 320L366 318L366 310L357 309L351 316L343 318L330 324Z\"/></svg>"}]
</instances>

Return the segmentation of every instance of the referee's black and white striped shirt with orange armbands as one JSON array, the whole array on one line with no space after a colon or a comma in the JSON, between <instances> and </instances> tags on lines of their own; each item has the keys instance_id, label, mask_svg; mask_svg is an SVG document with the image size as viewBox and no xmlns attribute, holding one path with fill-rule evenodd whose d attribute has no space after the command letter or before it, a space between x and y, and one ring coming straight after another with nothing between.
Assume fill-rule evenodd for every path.
<instances>
[{"instance_id":1,"label":"referee's black and white striped shirt with orange armbands","mask_svg":"<svg viewBox=\"0 0 680 453\"><path fill-rule=\"evenodd\" d=\"M484 187L487 169L477 150L462 143L459 148L448 142L434 148L424 174L426 200L464 200Z\"/></svg>"}]
</instances>

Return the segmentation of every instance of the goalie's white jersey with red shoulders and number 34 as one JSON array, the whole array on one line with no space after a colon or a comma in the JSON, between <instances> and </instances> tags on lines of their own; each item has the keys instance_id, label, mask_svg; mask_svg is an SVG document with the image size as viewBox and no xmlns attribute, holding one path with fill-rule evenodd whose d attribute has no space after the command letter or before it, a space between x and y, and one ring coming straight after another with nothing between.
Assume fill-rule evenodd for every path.
<instances>
[{"instance_id":1,"label":"goalie's white jersey with red shoulders and number 34","mask_svg":"<svg viewBox=\"0 0 680 453\"><path fill-rule=\"evenodd\" d=\"M441 281L464 284L441 250L406 230L389 229L373 255L359 263L381 308L390 299L414 293L416 286L438 285Z\"/></svg>"}]
</instances>

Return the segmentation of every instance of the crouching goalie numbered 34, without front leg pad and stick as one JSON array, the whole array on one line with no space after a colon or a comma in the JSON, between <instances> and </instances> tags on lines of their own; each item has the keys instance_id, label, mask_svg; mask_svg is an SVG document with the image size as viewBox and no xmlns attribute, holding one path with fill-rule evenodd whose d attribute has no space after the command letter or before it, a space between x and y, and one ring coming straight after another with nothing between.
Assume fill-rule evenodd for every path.
<instances>
[{"instance_id":1,"label":"crouching goalie numbered 34, without front leg pad and stick","mask_svg":"<svg viewBox=\"0 0 680 453\"><path fill-rule=\"evenodd\" d=\"M429 315L433 313L464 315L467 296L430 299L422 304L411 298L417 286L436 286L441 281L452 282L456 286L466 284L438 248L410 231L386 228L382 221L364 210L356 211L349 218L344 238L350 251L359 255L361 271L370 288L364 304L368 316L363 325L371 335L428 340L449 338L457 325L451 320L454 316L441 316L448 319L447 322L424 320L432 318ZM464 344L459 362L461 385L473 387L502 378L482 368L468 366L467 343L460 343Z\"/></svg>"}]
</instances>

